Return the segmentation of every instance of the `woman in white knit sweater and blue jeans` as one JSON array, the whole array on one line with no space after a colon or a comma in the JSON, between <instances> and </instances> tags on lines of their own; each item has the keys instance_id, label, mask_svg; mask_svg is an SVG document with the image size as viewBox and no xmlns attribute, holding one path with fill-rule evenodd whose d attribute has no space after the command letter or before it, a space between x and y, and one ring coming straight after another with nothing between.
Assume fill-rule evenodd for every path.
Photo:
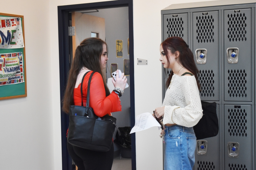
<instances>
[{"instance_id":1,"label":"woman in white knit sweater and blue jeans","mask_svg":"<svg viewBox=\"0 0 256 170\"><path fill-rule=\"evenodd\" d=\"M161 134L165 143L164 170L189 170L195 163L196 136L193 126L203 116L193 53L180 37L170 37L160 46L160 61L172 69L166 82L162 107L155 110L163 117Z\"/></svg>"}]
</instances>

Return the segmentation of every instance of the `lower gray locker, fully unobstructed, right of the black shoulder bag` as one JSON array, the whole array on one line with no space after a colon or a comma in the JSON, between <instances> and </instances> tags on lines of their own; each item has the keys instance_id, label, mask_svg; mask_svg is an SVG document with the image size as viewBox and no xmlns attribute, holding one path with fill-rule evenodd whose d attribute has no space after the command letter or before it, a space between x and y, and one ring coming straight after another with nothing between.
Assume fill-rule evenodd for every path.
<instances>
[{"instance_id":1,"label":"lower gray locker, fully unobstructed, right of the black shoulder bag","mask_svg":"<svg viewBox=\"0 0 256 170\"><path fill-rule=\"evenodd\" d=\"M225 169L252 169L252 106L224 105ZM232 148L236 151L232 151ZM236 158L237 157L237 158Z\"/></svg>"}]
</instances>

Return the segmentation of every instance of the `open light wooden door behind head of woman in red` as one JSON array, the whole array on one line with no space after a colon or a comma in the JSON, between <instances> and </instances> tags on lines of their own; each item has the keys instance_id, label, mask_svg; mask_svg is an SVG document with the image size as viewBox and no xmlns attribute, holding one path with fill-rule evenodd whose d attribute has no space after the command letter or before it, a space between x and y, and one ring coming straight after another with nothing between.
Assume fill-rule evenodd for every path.
<instances>
[{"instance_id":1,"label":"open light wooden door behind head of woman in red","mask_svg":"<svg viewBox=\"0 0 256 170\"><path fill-rule=\"evenodd\" d=\"M72 26L75 35L72 36L73 57L76 47L86 38L97 37L105 41L105 19L80 12L72 12ZM103 70L106 73L106 68ZM106 74L103 74L106 80Z\"/></svg>"}]
</instances>

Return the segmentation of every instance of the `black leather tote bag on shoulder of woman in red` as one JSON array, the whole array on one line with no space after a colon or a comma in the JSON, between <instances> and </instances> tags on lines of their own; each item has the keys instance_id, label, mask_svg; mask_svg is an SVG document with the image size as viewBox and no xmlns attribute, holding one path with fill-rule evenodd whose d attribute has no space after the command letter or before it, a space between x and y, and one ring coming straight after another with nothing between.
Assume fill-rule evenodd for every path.
<instances>
[{"instance_id":1,"label":"black leather tote bag on shoulder of woman in red","mask_svg":"<svg viewBox=\"0 0 256 170\"><path fill-rule=\"evenodd\" d=\"M84 74L86 76L88 72ZM90 84L92 72L87 89L86 107L70 106L69 107L69 127L68 127L68 142L74 146L85 148L92 151L107 152L112 144L112 137L116 127L116 118L110 115L98 117L89 107L90 99ZM83 81L81 83L81 96L83 96ZM120 134L120 132L118 131Z\"/></svg>"}]
</instances>

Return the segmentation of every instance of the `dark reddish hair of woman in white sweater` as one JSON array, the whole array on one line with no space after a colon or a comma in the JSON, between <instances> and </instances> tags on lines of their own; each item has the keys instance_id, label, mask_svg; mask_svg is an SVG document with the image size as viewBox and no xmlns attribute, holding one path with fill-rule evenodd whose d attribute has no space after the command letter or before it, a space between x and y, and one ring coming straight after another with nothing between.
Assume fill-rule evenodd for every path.
<instances>
[{"instance_id":1,"label":"dark reddish hair of woman in white sweater","mask_svg":"<svg viewBox=\"0 0 256 170\"><path fill-rule=\"evenodd\" d=\"M196 63L194 61L194 56L192 51L188 48L188 45L186 44L186 42L180 38L180 37L170 37L167 38L166 40L164 40L161 43L163 49L164 49L164 53L166 55L166 59L167 59L167 65L169 67L170 65L170 60L169 60L169 56L168 56L168 49L171 51L172 54L175 53L175 51L179 51L180 55L179 55L179 62L186 68L188 69L192 74L194 74L195 78L196 78L196 83L197 83L197 87L198 90L200 90L200 84L198 81L198 76L197 73L199 72L197 67L196 67ZM171 79L173 76L173 71L171 71L171 74L165 84L166 87L168 87L170 85Z\"/></svg>"}]
</instances>

